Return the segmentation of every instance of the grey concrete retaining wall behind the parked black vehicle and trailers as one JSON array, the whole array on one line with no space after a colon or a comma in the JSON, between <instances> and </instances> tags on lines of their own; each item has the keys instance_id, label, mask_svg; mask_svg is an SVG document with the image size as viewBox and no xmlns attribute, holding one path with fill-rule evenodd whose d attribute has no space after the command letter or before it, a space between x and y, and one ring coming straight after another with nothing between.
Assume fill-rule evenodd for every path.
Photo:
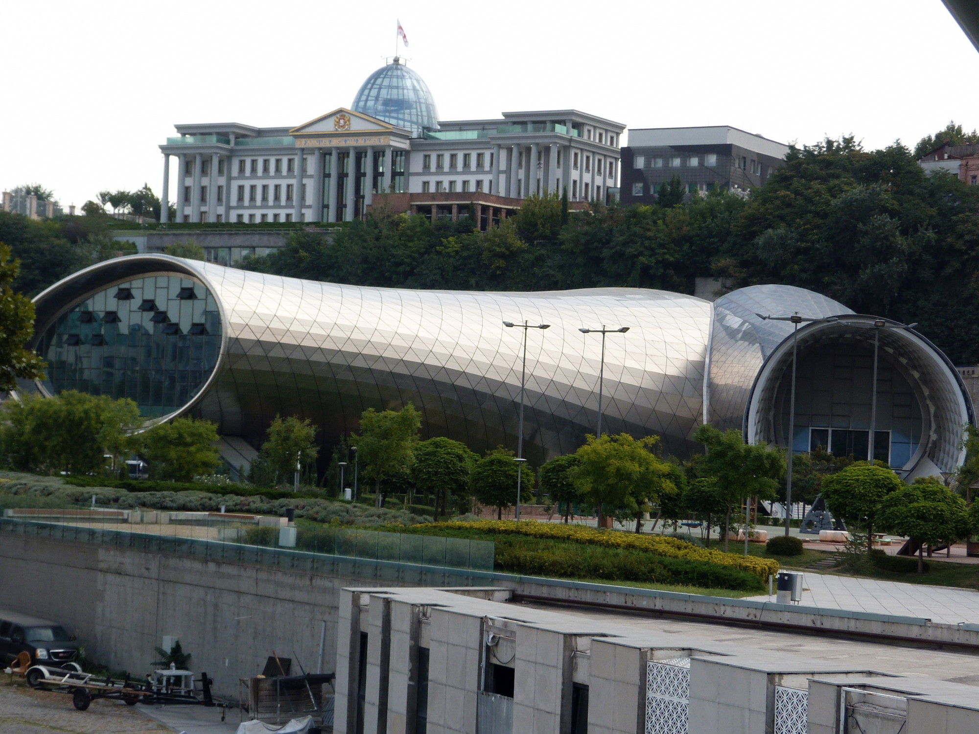
<instances>
[{"instance_id":1,"label":"grey concrete retaining wall behind the parked black vehicle and trailers","mask_svg":"<svg viewBox=\"0 0 979 734\"><path fill-rule=\"evenodd\" d=\"M323 619L323 669L334 670L339 590L365 583L0 533L5 608L64 623L90 657L139 675L151 669L163 635L173 635L223 696L237 697L238 678L260 672L273 649L315 670Z\"/></svg>"}]
</instances>

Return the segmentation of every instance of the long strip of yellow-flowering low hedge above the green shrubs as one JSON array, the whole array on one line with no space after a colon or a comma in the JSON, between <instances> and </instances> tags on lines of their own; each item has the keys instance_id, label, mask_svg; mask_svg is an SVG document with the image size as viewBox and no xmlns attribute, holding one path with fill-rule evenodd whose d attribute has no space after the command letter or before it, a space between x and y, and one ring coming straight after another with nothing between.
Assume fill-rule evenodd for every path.
<instances>
[{"instance_id":1,"label":"long strip of yellow-flowering low hedge above the green shrubs","mask_svg":"<svg viewBox=\"0 0 979 734\"><path fill-rule=\"evenodd\" d=\"M683 558L690 561L707 561L709 563L731 566L748 573L754 573L763 580L769 574L778 573L778 562L769 558L754 556L738 556L719 550L698 548L673 537L664 535L644 535L635 532L616 532L614 530L597 530L581 525L559 525L557 523L538 523L535 520L479 520L472 523L450 521L427 525L428 528L446 528L454 530L480 530L501 534L530 535L554 540L571 540L576 543L589 545L604 545L608 548L631 548L655 553L667 558Z\"/></svg>"}]
</instances>

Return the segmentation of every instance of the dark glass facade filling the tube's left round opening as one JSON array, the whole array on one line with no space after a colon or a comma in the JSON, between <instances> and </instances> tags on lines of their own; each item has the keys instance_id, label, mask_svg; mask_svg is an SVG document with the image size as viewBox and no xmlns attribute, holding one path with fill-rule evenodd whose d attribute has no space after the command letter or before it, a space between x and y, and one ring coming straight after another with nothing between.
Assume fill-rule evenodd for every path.
<instances>
[{"instance_id":1,"label":"dark glass facade filling the tube's left round opening","mask_svg":"<svg viewBox=\"0 0 979 734\"><path fill-rule=\"evenodd\" d=\"M221 347L217 303L186 276L139 278L107 288L59 316L37 353L52 394L79 390L128 397L160 418L208 382Z\"/></svg>"}]
</instances>

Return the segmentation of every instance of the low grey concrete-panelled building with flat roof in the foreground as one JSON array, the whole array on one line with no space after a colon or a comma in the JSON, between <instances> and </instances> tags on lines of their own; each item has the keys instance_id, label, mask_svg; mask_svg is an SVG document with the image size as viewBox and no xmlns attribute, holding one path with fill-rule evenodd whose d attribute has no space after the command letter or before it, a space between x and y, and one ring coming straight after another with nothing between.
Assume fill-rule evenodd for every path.
<instances>
[{"instance_id":1,"label":"low grey concrete-panelled building with flat roof in the foreground","mask_svg":"<svg viewBox=\"0 0 979 734\"><path fill-rule=\"evenodd\" d=\"M512 601L494 587L344 589L334 731L979 730L976 688L910 667L918 657L910 651L910 669L896 670L879 655L851 654L860 643L827 640L821 653L802 644L763 649L758 634L731 628ZM945 662L955 666L956 656Z\"/></svg>"}]
</instances>

